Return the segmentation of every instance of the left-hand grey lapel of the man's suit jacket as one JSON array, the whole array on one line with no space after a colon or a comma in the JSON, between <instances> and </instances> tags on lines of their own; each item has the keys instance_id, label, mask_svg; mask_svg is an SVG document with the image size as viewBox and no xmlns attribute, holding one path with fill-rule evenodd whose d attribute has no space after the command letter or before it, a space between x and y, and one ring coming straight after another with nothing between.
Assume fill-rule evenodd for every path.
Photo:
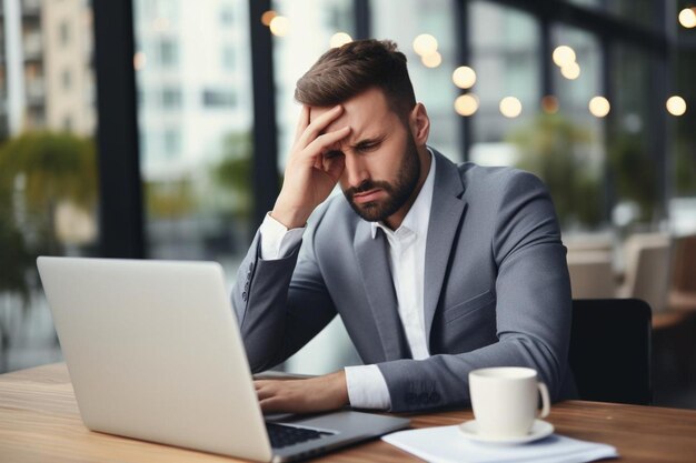
<instances>
[{"instance_id":1,"label":"left-hand grey lapel of the man's suit jacket","mask_svg":"<svg viewBox=\"0 0 696 463\"><path fill-rule=\"evenodd\" d=\"M370 223L362 220L358 223L354 246L365 293L370 302L385 351L385 360L408 359L410 349L399 320L394 281L389 271L388 245L381 230L378 230L372 239Z\"/></svg>"}]
</instances>

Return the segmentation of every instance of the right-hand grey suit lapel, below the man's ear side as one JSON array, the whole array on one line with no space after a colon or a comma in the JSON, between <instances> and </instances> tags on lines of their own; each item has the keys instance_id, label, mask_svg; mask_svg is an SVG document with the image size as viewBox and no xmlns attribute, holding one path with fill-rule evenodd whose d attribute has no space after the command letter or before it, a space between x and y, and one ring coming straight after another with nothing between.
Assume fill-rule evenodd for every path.
<instances>
[{"instance_id":1,"label":"right-hand grey suit lapel, below the man's ear side","mask_svg":"<svg viewBox=\"0 0 696 463\"><path fill-rule=\"evenodd\" d=\"M445 281L449 254L466 211L466 202L461 200L464 185L457 165L437 151L432 151L437 161L426 243L424 288L424 315L428 345L430 344L432 318Z\"/></svg>"}]
</instances>

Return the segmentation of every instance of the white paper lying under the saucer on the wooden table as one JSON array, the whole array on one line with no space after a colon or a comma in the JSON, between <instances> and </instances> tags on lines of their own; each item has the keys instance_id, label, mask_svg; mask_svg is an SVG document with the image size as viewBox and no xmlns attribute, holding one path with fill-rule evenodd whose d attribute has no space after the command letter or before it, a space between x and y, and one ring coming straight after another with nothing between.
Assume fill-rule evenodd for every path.
<instances>
[{"instance_id":1,"label":"white paper lying under the saucer on the wooden table","mask_svg":"<svg viewBox=\"0 0 696 463\"><path fill-rule=\"evenodd\" d=\"M400 431L381 439L431 463L584 463L618 456L612 445L558 434L519 445L477 443L466 439L457 426Z\"/></svg>"}]
</instances>

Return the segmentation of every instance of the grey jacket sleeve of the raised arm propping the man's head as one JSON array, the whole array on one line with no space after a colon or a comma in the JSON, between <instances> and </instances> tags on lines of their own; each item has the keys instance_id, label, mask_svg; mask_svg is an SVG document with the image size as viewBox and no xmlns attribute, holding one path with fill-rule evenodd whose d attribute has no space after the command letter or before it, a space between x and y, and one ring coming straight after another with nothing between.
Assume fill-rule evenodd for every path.
<instances>
[{"instance_id":1,"label":"grey jacket sleeve of the raised arm propping the man's head","mask_svg":"<svg viewBox=\"0 0 696 463\"><path fill-rule=\"evenodd\" d=\"M310 219L319 223L321 214ZM287 256L260 259L257 231L237 272L232 306L252 372L284 362L336 315L314 258L315 227Z\"/></svg>"}]
</instances>

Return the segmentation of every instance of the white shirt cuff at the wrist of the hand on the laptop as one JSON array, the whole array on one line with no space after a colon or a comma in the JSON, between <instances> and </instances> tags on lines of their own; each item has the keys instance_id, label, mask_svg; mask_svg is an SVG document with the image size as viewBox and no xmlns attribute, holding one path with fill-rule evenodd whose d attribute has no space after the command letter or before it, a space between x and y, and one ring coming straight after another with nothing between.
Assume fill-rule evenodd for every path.
<instances>
[{"instance_id":1,"label":"white shirt cuff at the wrist of the hand on the laptop","mask_svg":"<svg viewBox=\"0 0 696 463\"><path fill-rule=\"evenodd\" d=\"M346 366L344 370L350 406L380 410L391 407L387 382L377 365Z\"/></svg>"}]
</instances>

